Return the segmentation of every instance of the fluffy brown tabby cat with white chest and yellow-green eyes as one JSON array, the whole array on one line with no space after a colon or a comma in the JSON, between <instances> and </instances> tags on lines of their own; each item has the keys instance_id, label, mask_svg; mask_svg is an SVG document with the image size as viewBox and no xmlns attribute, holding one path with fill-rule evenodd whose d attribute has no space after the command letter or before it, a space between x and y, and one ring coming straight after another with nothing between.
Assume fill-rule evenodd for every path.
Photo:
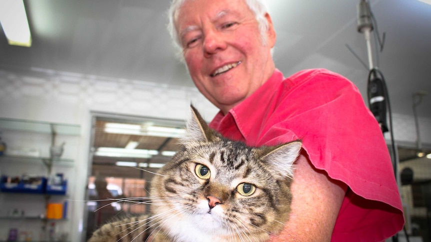
<instances>
[{"instance_id":1,"label":"fluffy brown tabby cat with white chest and yellow-green eyes","mask_svg":"<svg viewBox=\"0 0 431 242\"><path fill-rule=\"evenodd\" d=\"M301 142L247 147L191 110L182 150L151 182L152 216L106 224L89 242L263 242L283 228Z\"/></svg>"}]
</instances>

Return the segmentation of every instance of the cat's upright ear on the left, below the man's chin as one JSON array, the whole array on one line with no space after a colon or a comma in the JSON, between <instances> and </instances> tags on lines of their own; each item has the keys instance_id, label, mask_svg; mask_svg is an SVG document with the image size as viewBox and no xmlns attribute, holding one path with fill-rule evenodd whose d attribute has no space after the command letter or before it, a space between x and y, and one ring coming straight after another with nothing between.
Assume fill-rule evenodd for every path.
<instances>
[{"instance_id":1,"label":"cat's upright ear on the left, below the man's chin","mask_svg":"<svg viewBox=\"0 0 431 242\"><path fill-rule=\"evenodd\" d=\"M186 122L187 132L181 138L181 143L185 146L194 146L195 142L213 142L217 138L216 132L208 127L193 105L190 105L190 109L191 114Z\"/></svg>"}]
</instances>

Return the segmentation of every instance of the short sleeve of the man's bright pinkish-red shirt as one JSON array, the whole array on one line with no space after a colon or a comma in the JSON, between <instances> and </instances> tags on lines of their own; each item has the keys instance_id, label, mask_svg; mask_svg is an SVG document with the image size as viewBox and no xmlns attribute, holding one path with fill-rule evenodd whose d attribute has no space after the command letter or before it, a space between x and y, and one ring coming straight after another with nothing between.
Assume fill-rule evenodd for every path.
<instances>
[{"instance_id":1,"label":"short sleeve of the man's bright pinkish-red shirt","mask_svg":"<svg viewBox=\"0 0 431 242\"><path fill-rule=\"evenodd\" d=\"M378 201L386 206L385 212L389 211L395 222L390 232L381 236L390 237L401 230L402 205L388 149L357 88L326 70L300 73L283 84L274 97L276 105L269 107L271 115L258 144L301 139L311 163L347 184L352 200ZM366 208L360 209L366 216Z\"/></svg>"}]
</instances>

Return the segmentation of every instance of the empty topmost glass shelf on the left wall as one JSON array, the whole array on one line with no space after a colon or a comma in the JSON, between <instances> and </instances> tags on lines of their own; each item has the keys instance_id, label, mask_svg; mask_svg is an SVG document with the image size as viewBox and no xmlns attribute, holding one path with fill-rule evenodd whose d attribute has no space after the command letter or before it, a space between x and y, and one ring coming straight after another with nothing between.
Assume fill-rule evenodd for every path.
<instances>
[{"instance_id":1,"label":"empty topmost glass shelf on the left wall","mask_svg":"<svg viewBox=\"0 0 431 242\"><path fill-rule=\"evenodd\" d=\"M0 130L17 130L17 131L29 131L36 133L58 135L80 135L81 128L76 124L60 124L60 123L48 123L43 121L31 121L25 119L9 119L0 118Z\"/></svg>"}]
</instances>

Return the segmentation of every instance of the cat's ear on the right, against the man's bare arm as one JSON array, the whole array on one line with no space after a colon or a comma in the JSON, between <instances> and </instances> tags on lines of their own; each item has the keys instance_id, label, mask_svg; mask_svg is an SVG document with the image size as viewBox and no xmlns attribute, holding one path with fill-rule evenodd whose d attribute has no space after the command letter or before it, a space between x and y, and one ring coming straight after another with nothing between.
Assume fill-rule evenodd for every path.
<instances>
[{"instance_id":1,"label":"cat's ear on the right, against the man's bare arm","mask_svg":"<svg viewBox=\"0 0 431 242\"><path fill-rule=\"evenodd\" d=\"M280 177L293 177L293 162L298 157L301 150L301 141L257 148L260 159L273 169L272 171Z\"/></svg>"}]
</instances>

